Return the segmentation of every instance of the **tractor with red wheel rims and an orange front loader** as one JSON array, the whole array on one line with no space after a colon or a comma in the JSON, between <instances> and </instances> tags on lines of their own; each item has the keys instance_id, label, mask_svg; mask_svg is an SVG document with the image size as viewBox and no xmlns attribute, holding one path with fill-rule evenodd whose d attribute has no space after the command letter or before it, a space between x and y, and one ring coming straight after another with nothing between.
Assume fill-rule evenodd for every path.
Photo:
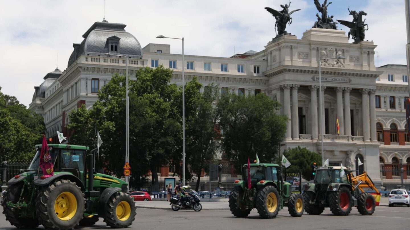
<instances>
[{"instance_id":1,"label":"tractor with red wheel rims and an orange front loader","mask_svg":"<svg viewBox=\"0 0 410 230\"><path fill-rule=\"evenodd\" d=\"M305 211L308 214L319 215L325 207L330 207L334 215L347 216L353 206L362 215L374 213L374 197L364 189L369 188L376 193L378 190L366 172L353 177L342 166L317 167L314 171L314 183L307 183L302 187Z\"/></svg>"}]
</instances>

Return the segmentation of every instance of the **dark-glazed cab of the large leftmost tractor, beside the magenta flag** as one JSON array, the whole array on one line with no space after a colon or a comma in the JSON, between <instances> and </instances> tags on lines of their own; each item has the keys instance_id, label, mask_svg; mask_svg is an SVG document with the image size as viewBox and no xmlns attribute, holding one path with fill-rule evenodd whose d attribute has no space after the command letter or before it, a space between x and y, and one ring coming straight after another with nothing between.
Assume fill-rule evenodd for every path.
<instances>
[{"instance_id":1,"label":"dark-glazed cab of the large leftmost tractor, beside the magenta flag","mask_svg":"<svg viewBox=\"0 0 410 230\"><path fill-rule=\"evenodd\" d=\"M38 171L39 169L41 145L36 145L35 148L37 152L28 167L29 171ZM54 171L72 173L77 178L84 178L84 172L87 171L86 150L89 150L89 147L62 144L48 145L48 153L50 153ZM83 183L85 184L84 180Z\"/></svg>"}]
</instances>

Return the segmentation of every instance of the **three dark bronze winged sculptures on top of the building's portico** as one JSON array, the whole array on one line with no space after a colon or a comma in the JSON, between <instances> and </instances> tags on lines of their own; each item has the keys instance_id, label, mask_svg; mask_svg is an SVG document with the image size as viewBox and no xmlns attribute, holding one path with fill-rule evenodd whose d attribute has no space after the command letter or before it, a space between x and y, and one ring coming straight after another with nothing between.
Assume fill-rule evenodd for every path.
<instances>
[{"instance_id":1,"label":"three dark bronze winged sculptures on top of the building's portico","mask_svg":"<svg viewBox=\"0 0 410 230\"><path fill-rule=\"evenodd\" d=\"M320 29L333 29L337 30L337 22L333 20L333 15L328 15L328 7L332 2L327 3L328 0L325 0L323 4L320 4L319 0L314 0L314 4L316 5L317 10L321 15L316 14L317 21L314 23L313 28L320 28ZM286 31L286 26L292 24L292 18L290 17L294 12L299 11L300 9L295 9L289 12L291 2L289 1L289 5L280 5L282 7L281 11L277 11L275 9L265 7L269 13L271 13L275 19L275 31L277 29L276 38L283 35L291 35ZM355 40L353 43L360 43L360 41L364 40L365 31L369 30L369 26L364 24L364 20L362 20L362 16L366 16L367 14L364 11L356 12L351 11L348 8L349 15L353 16L353 21L345 21L345 20L337 20L341 25L345 25L350 28L350 32L348 32L348 37L352 36L352 39ZM367 27L367 28L366 28Z\"/></svg>"}]
</instances>

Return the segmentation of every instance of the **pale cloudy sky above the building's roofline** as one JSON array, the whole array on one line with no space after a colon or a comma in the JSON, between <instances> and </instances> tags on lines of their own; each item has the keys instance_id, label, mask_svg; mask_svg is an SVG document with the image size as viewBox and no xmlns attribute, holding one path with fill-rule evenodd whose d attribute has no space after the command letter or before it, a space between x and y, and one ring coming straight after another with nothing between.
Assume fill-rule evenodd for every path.
<instances>
[{"instance_id":1,"label":"pale cloudy sky above the building's roofline","mask_svg":"<svg viewBox=\"0 0 410 230\"><path fill-rule=\"evenodd\" d=\"M264 7L280 9L285 3L289 1L105 0L105 19L126 24L125 30L142 47L166 43L171 44L171 53L182 53L179 40L155 38L163 34L184 37L187 55L230 57L234 50L263 50L276 36L275 19ZM348 7L367 13L365 40L378 46L376 66L406 64L404 0L333 0L328 14L352 20ZM292 0L293 9L301 11L292 14L293 23L287 31L300 39L313 26L317 9L313 0ZM62 71L67 68L73 43L80 43L82 34L103 16L104 0L0 0L2 93L16 96L28 107L34 86L56 66ZM343 25L338 28L349 31Z\"/></svg>"}]
</instances>

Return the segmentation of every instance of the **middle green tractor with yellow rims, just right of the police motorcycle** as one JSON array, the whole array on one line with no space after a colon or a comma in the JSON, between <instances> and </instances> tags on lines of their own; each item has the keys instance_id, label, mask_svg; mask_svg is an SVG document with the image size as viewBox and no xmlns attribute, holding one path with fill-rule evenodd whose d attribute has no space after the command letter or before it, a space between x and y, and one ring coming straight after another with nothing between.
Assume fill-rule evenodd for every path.
<instances>
[{"instance_id":1,"label":"middle green tractor with yellow rims, just right of the police motorcycle","mask_svg":"<svg viewBox=\"0 0 410 230\"><path fill-rule=\"evenodd\" d=\"M248 189L248 165L244 165L243 180L236 180L229 195L229 208L236 217L246 217L253 208L262 218L278 215L284 206L294 217L302 216L301 194L292 194L291 184L284 182L278 164L250 164L251 189Z\"/></svg>"}]
</instances>

